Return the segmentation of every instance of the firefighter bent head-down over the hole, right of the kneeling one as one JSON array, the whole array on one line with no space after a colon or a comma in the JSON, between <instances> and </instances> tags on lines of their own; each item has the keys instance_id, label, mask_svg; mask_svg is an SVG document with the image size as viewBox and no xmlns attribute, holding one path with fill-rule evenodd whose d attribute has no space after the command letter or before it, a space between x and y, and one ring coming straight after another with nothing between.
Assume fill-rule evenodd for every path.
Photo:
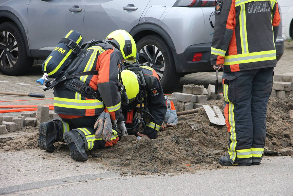
<instances>
[{"instance_id":1,"label":"firefighter bent head-down over the hole, right of the kneeling one","mask_svg":"<svg viewBox=\"0 0 293 196\"><path fill-rule=\"evenodd\" d=\"M121 77L128 100L121 99L124 119L120 121L125 122L130 135L156 138L167 110L159 76L153 68L136 63L123 69ZM138 132L140 123L144 130L141 133Z\"/></svg>"}]
</instances>

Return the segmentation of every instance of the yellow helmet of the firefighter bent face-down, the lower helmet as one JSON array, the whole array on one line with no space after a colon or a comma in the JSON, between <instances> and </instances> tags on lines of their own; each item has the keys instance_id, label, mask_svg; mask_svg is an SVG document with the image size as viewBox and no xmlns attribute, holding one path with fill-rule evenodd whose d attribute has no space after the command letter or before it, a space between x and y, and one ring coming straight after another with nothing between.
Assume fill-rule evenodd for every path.
<instances>
[{"instance_id":1,"label":"yellow helmet of the firefighter bent face-down, the lower helmet","mask_svg":"<svg viewBox=\"0 0 293 196\"><path fill-rule=\"evenodd\" d=\"M129 103L133 102L137 94L139 93L139 79L137 75L130 71L130 70L123 70L121 72L121 79L123 82L123 85L125 86L125 91L128 97ZM121 100L122 104L123 100Z\"/></svg>"}]
</instances>

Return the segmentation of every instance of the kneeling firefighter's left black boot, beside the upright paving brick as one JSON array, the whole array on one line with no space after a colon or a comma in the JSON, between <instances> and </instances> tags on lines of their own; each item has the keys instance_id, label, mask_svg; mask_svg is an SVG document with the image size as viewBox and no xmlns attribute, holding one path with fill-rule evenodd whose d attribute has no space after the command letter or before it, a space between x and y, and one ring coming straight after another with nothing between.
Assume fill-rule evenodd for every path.
<instances>
[{"instance_id":1,"label":"kneeling firefighter's left black boot, beside the upright paving brick","mask_svg":"<svg viewBox=\"0 0 293 196\"><path fill-rule=\"evenodd\" d=\"M53 143L61 141L62 134L63 130L57 121L44 122L39 127L38 146L45 151L54 152L55 147Z\"/></svg>"}]
</instances>

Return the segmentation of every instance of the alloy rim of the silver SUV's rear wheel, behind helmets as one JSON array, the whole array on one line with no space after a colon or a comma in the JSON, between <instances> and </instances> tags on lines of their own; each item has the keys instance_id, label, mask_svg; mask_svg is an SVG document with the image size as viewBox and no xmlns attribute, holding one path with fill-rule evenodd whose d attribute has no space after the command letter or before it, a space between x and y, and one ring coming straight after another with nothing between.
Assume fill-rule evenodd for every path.
<instances>
[{"instance_id":1,"label":"alloy rim of the silver SUV's rear wheel, behind helmets","mask_svg":"<svg viewBox=\"0 0 293 196\"><path fill-rule=\"evenodd\" d=\"M145 45L139 51L139 63L152 67L161 80L165 72L165 59L161 50L155 45Z\"/></svg>"}]
</instances>

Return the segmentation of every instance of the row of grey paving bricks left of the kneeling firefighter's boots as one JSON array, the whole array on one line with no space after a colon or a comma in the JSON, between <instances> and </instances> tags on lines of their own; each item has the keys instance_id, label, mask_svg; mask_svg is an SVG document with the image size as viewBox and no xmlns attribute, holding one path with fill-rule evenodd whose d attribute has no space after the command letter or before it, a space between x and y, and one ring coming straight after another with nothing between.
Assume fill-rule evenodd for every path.
<instances>
[{"instance_id":1,"label":"row of grey paving bricks left of the kneeling firefighter's boots","mask_svg":"<svg viewBox=\"0 0 293 196\"><path fill-rule=\"evenodd\" d=\"M58 114L49 113L48 106L38 106L37 115L35 112L27 112L21 116L0 116L0 134L7 134L22 129L24 126L37 127L42 122L53 119L61 119Z\"/></svg>"}]
</instances>

